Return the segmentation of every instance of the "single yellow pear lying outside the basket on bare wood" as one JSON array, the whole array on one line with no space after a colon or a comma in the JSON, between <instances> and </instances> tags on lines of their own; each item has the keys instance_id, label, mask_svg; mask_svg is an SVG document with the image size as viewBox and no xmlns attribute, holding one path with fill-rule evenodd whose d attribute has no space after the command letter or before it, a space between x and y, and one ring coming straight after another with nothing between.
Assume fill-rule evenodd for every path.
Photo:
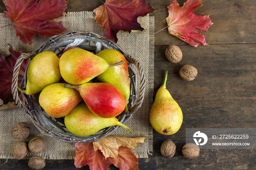
<instances>
[{"instance_id":1,"label":"single yellow pear lying outside the basket on bare wood","mask_svg":"<svg viewBox=\"0 0 256 170\"><path fill-rule=\"evenodd\" d=\"M155 101L151 107L149 120L152 127L163 135L176 133L182 124L183 115L180 106L172 98L166 89L168 72L165 72L165 81L155 95Z\"/></svg>"}]
</instances>

